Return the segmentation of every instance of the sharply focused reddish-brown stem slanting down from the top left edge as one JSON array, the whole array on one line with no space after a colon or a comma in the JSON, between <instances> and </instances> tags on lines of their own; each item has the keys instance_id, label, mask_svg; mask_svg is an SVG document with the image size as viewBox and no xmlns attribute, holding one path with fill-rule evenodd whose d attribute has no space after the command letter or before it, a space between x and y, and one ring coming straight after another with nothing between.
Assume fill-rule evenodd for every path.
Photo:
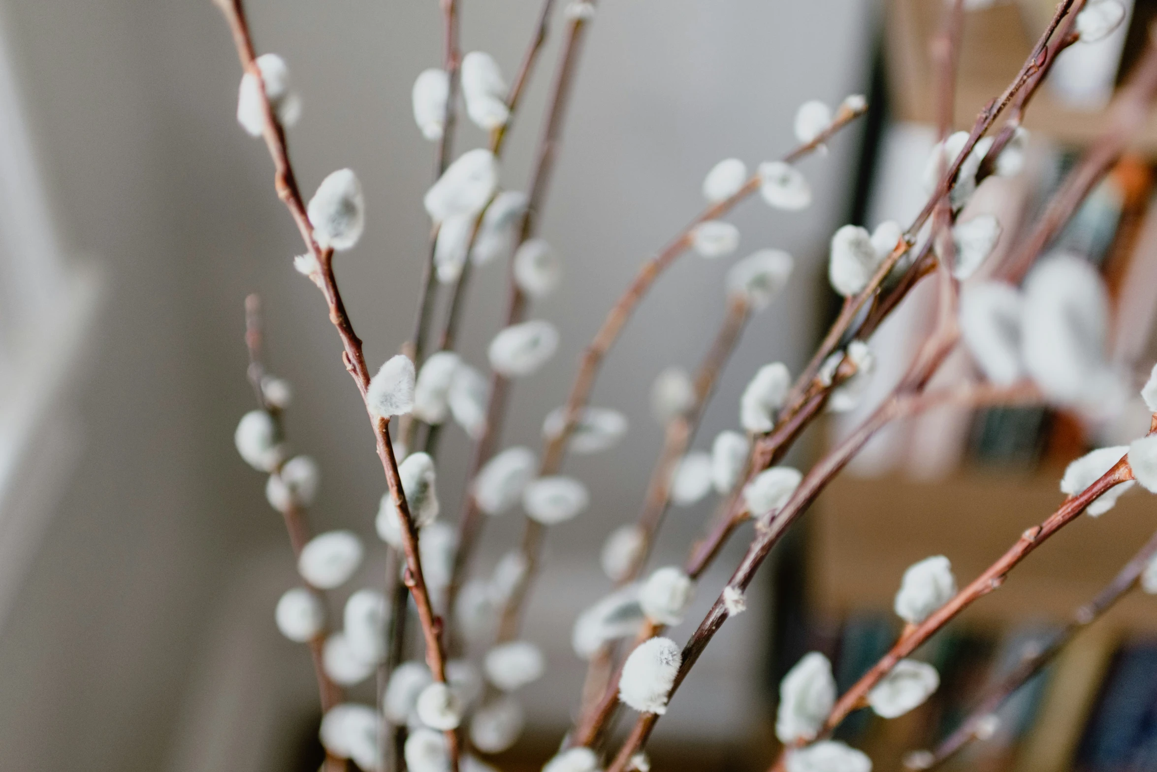
<instances>
[{"instance_id":1,"label":"sharply focused reddish-brown stem slanting down from the top left edge","mask_svg":"<svg viewBox=\"0 0 1157 772\"><path fill-rule=\"evenodd\" d=\"M261 86L261 106L265 113L263 135L277 169L275 188L278 197L281 198L289 209L290 215L297 223L297 229L301 231L305 247L317 260L319 273L317 277L318 286L329 307L330 322L333 323L341 338L342 361L346 370L353 377L358 391L362 397L362 403L366 404L366 410L374 428L377 455L382 461L386 484L403 525L401 541L406 553L405 581L418 606L418 617L426 639L426 662L434 678L439 682L445 682L445 656L441 641L442 620L434 615L429 594L426 590L421 558L418 552L418 529L414 527L413 517L410 515L410 507L406 503L401 481L398 478L398 463L393 455L393 444L390 441L390 421L389 419L374 416L366 403L366 392L369 389L371 376L366 365L366 356L362 353L362 343L354 332L353 324L346 313L345 303L341 300L341 293L338 289L337 278L333 274L333 250L318 247L314 240L312 227L310 226L309 216L305 214L305 205L294 177L293 166L289 162L289 150L286 144L285 131L274 116L268 98L265 96L265 84L261 81L260 69L257 67L252 38L245 22L242 0L214 0L214 2L221 8L226 20L229 22L242 68L256 78L257 82ZM450 748L451 772L457 772L458 738L454 731L447 731L445 736Z\"/></svg>"}]
</instances>

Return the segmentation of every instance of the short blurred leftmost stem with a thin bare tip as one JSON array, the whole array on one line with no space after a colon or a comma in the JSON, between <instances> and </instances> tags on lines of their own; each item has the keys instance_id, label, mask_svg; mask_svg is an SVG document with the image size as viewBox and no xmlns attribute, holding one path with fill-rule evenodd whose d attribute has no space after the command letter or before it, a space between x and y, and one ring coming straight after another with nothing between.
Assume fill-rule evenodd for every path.
<instances>
[{"instance_id":1,"label":"short blurred leftmost stem with a thin bare tip","mask_svg":"<svg viewBox=\"0 0 1157 772\"><path fill-rule=\"evenodd\" d=\"M245 372L249 376L250 384L253 387L253 395L257 397L257 406L273 418L278 427L278 434L283 439L285 425L281 420L281 409L275 405L271 405L265 398L265 391L261 389L261 380L265 377L265 365L261 361L261 301L257 295L248 295L245 297L245 348L249 351L249 367ZM273 473L280 475L281 466L282 464L279 463L273 470ZM308 544L311 538L305 513L293 499L293 497L289 497L288 505L281 514L285 519L286 531L289 534L289 544L293 546L294 558L300 560L302 549L304 549L305 544ZM309 593L324 606L325 594L309 582L305 582L305 587ZM320 697L323 713L345 700L345 697L341 693L341 688L330 679L330 676L325 672L325 666L322 661L322 652L325 648L325 637L327 634L327 630L323 626L317 634L308 641L310 659L314 663L314 677L317 678L317 691ZM326 752L326 772L339 772L345 767L346 764L342 759Z\"/></svg>"}]
</instances>

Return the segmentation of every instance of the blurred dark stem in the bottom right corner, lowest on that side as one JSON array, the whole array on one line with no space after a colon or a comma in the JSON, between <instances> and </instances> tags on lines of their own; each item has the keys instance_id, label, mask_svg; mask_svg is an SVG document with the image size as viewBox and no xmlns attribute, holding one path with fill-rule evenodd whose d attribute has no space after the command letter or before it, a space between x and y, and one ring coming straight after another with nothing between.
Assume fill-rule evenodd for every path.
<instances>
[{"instance_id":1,"label":"blurred dark stem in the bottom right corner, lowest on that side","mask_svg":"<svg viewBox=\"0 0 1157 772\"><path fill-rule=\"evenodd\" d=\"M955 756L965 745L977 738L978 729L986 716L992 715L1001 705L1011 697L1020 686L1029 682L1034 675L1040 672L1045 666L1056 659L1056 655L1068 646L1069 641L1076 638L1082 630L1091 625L1101 615L1125 597L1132 590L1137 579L1149 565L1150 559L1157 554L1157 534L1154 534L1141 550L1125 564L1117 576L1113 578L1092 600L1079 606L1073 613L1073 618L1049 641L1026 654L1024 659L1009 671L1003 678L993 684L985 694L977 701L977 707L968 713L960 726L936 747L931 757L919 769L929 770L939 766Z\"/></svg>"}]
</instances>

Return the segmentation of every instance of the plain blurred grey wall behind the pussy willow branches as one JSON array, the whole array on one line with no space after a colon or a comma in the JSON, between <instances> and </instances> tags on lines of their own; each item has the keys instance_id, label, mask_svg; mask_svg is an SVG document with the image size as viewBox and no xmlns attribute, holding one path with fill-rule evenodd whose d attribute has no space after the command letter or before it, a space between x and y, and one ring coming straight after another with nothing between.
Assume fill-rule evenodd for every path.
<instances>
[{"instance_id":1,"label":"plain blurred grey wall behind the pussy willow branches","mask_svg":"<svg viewBox=\"0 0 1157 772\"><path fill-rule=\"evenodd\" d=\"M345 166L364 186L366 236L339 258L338 274L376 366L410 330L426 251L420 200L432 146L413 125L410 88L440 61L437 3L248 5L259 50L286 57L304 97L290 141L307 196ZM568 275L535 314L557 323L563 341L544 372L515 389L508 441L537 444L541 417L562 400L576 356L613 297L640 260L701 208L707 170L731 155L752 168L778 156L794 142L801 102L834 104L867 82L874 3L600 5L543 220ZM464 0L464 50L492 52L513 75L537 7L537 0ZM78 389L83 420L74 428L83 455L0 628L3 766L257 769L268 758L253 751L250 762L208 738L238 727L259 735L308 711L312 696L303 649L272 625L273 600L293 581L281 524L264 501L264 480L233 450L233 428L251 406L244 295L258 291L265 299L268 363L296 390L289 432L322 465L316 527L354 528L369 539L383 483L364 413L317 291L290 267L300 242L273 194L265 149L234 119L239 71L211 2L5 0L0 8L62 238L98 256L109 289L89 344L94 367ZM503 170L510 188L525 185L560 28L510 138ZM471 128L457 147L481 140ZM826 157L803 163L816 199L808 212L787 215L753 200L735 214L740 256L779 247L798 267L791 291L747 331L700 447L737 424L738 394L759 365L782 359L799 367L823 300L819 258L848 204L857 142L852 132ZM658 447L649 383L662 368L690 368L701 356L722 315L730 263L683 258L606 362L594 402L625 411L632 431L613 451L567 465L588 481L594 502L552 534L558 573L539 589L529 620L557 677L528 694L547 723L561 723L570 709L547 692L570 700L573 689L559 690L581 676L566 648L569 619L605 589L592 556L613 525L633 517ZM499 267L476 275L463 348L480 366L504 295ZM444 450L443 479L460 479L467 458L460 431L447 431ZM456 513L456 486L443 498ZM672 513L661 559L681 557L706 512L705 505ZM517 528L511 516L489 529L482 565ZM700 605L723 575L708 578ZM746 691L736 692L737 704L752 699L754 679L744 668L760 667L766 613L740 619L746 625L721 635L714 657L700 666L699 713L692 705L672 708L671 727L702 725L703 715L722 711L703 731L728 736L751 719L734 722L727 698L738 684ZM243 683L268 688L229 691ZM727 686L716 689L718 704L713 684ZM270 707L281 697L293 704Z\"/></svg>"}]
</instances>

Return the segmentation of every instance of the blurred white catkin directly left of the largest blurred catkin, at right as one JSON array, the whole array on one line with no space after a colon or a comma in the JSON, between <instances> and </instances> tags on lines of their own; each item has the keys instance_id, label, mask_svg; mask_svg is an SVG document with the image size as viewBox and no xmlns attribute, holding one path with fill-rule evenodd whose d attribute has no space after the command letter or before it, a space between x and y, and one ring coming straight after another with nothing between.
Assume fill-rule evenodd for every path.
<instances>
[{"instance_id":1,"label":"blurred white catkin directly left of the largest blurred catkin, at right","mask_svg":"<svg viewBox=\"0 0 1157 772\"><path fill-rule=\"evenodd\" d=\"M960 293L960 334L985 377L996 385L1012 385L1024 377L1023 314L1020 293L1003 281L970 285Z\"/></svg>"}]
</instances>

